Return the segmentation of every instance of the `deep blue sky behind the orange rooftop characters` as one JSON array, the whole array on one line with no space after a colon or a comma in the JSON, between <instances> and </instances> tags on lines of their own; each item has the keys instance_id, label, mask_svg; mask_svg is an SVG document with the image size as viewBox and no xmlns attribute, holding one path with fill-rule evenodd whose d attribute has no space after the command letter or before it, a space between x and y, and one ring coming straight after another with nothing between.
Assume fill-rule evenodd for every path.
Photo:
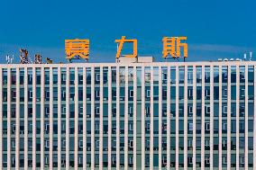
<instances>
[{"instance_id":1,"label":"deep blue sky behind the orange rooftop characters","mask_svg":"<svg viewBox=\"0 0 256 170\"><path fill-rule=\"evenodd\" d=\"M163 36L187 36L189 61L256 60L256 1L66 1L0 2L0 62L19 60L26 48L65 61L65 39L89 39L90 62L114 62L115 39L138 40L140 56L162 61Z\"/></svg>"}]
</instances>

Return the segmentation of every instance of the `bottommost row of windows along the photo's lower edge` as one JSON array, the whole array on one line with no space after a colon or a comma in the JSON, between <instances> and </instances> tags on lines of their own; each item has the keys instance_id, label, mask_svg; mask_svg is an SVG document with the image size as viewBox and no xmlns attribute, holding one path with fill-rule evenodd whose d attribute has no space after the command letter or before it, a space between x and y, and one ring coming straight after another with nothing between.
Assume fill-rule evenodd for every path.
<instances>
[{"instance_id":1,"label":"bottommost row of windows along the photo's lower edge","mask_svg":"<svg viewBox=\"0 0 256 170\"><path fill-rule=\"evenodd\" d=\"M139 156L139 155L138 155ZM23 158L23 154L21 155L20 158L20 167L24 166L24 158ZM36 167L40 167L41 166L41 159L40 159L40 155L36 155ZM179 155L178 159L179 159L179 164L178 167L184 167L184 161L180 161L183 160L184 155ZM252 157L252 155L250 155L250 157ZM123 158L124 155L121 155L120 157L120 167L124 166L124 162L123 162ZM87 156L87 167L91 167L91 157ZM167 155L163 154L161 156L161 167L165 167L167 166ZM49 155L45 155L44 157L44 167L49 167ZM58 155L54 154L53 155L53 167L58 167ZM74 167L74 155L70 155L69 156L69 167ZM244 157L242 155L239 156L239 160L238 160L238 164L239 167L244 167ZM202 165L201 163L201 156L197 155L196 157L196 166L200 167ZM204 163L205 167L209 167L210 166L210 157L209 155L207 155L205 157L205 163ZM3 162L3 166L7 167L7 161L6 161L6 155L4 155L4 162ZM15 156L12 155L11 156L11 166L15 167ZM61 155L61 167L65 167L66 166L66 156L65 155ZM99 155L95 156L95 167L99 166ZM107 155L103 155L103 166L107 167L108 166L108 157ZM116 167L116 157L114 155L111 156L111 166L112 167ZM150 156L149 155L145 155L145 167L149 167L150 166ZM153 166L159 166L159 156L154 154L153 156ZM176 166L176 161L175 161L175 155L170 155L170 167L175 167ZM193 156L192 155L188 155L187 156L187 167L192 167L193 166ZM222 157L222 166L226 167L227 166L227 156L224 155ZM236 166L236 155L232 154L231 155L231 167L235 167ZM248 164L249 167L253 166L253 163L250 161ZM28 167L32 167L32 155L29 155L28 157ZM78 167L83 167L83 156L82 155L78 155ZM128 167L133 167L133 155L129 155L128 156ZM214 154L214 167L218 167L218 155Z\"/></svg>"}]
</instances>

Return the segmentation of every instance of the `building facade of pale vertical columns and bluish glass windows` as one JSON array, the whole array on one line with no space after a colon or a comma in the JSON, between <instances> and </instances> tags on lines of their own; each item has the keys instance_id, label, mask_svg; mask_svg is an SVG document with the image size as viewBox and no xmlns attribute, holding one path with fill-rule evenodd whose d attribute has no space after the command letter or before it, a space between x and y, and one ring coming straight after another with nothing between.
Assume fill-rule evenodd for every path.
<instances>
[{"instance_id":1,"label":"building facade of pale vertical columns and bluish glass windows","mask_svg":"<svg viewBox=\"0 0 256 170\"><path fill-rule=\"evenodd\" d=\"M255 68L0 65L0 169L255 169Z\"/></svg>"}]
</instances>

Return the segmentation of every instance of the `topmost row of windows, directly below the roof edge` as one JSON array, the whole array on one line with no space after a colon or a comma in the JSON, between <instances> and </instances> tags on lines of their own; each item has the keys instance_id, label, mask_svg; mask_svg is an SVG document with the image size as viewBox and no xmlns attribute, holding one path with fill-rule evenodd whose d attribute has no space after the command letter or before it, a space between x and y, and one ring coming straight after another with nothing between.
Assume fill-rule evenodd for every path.
<instances>
[{"instance_id":1,"label":"topmost row of windows, directly below the roof edge","mask_svg":"<svg viewBox=\"0 0 256 170\"><path fill-rule=\"evenodd\" d=\"M214 82L219 82L219 68L215 66L214 67ZM12 85L16 84L16 70L19 69L19 75L20 75L20 85L24 84L24 68L11 68L11 81ZM227 76L228 76L228 67L223 66L222 69L222 82L227 83ZM7 68L3 68L3 85L7 84ZM135 70L137 72L137 78L139 77L139 81L142 80L142 76L140 75L142 73L142 67L135 67ZM108 67L103 67L103 81L104 84L107 82L108 78ZM205 67L205 70L202 70L202 67L196 67L196 74L197 74L197 83L201 83L202 81L202 71L205 72L205 83L210 83L210 67ZM253 83L254 80L254 67L249 66L248 70L245 70L244 66L239 67L239 77L240 77L240 83L245 82L245 72L248 72L248 82ZM41 75L42 72L44 73L44 84L49 85L50 84L50 68L44 67L41 68L35 68L35 82L36 85L41 85ZM61 84L66 84L67 80L67 68L60 68L60 80ZM100 82L100 67L95 67L95 84L98 85ZM158 83L159 81L159 67L153 67L153 82ZM166 84L168 79L168 67L161 67L161 76L162 76L162 83ZM91 84L91 73L92 68L87 67L86 68L86 77L87 77L87 84ZM134 73L133 73L133 67L128 67L128 70L125 69L125 67L119 68L119 76L120 76L120 83L123 83L125 81L125 74L127 73L128 76L128 82L133 82L134 79ZM74 85L75 84L75 68L69 69L69 84ZM236 67L231 67L231 83L236 83ZM53 85L58 84L58 68L52 68L52 75L53 75ZM116 82L116 67L111 67L111 76L113 83ZM175 84L176 79L176 67L170 67L170 83ZM28 85L32 85L32 68L27 68L27 83ZM178 83L184 84L184 77L185 77L185 67L178 67ZM187 83L192 84L193 83L193 67L187 67ZM144 80L146 83L149 83L151 81L151 67L145 67L144 69ZM137 80L138 81L138 80ZM78 67L78 85L83 85L83 68Z\"/></svg>"}]
</instances>

